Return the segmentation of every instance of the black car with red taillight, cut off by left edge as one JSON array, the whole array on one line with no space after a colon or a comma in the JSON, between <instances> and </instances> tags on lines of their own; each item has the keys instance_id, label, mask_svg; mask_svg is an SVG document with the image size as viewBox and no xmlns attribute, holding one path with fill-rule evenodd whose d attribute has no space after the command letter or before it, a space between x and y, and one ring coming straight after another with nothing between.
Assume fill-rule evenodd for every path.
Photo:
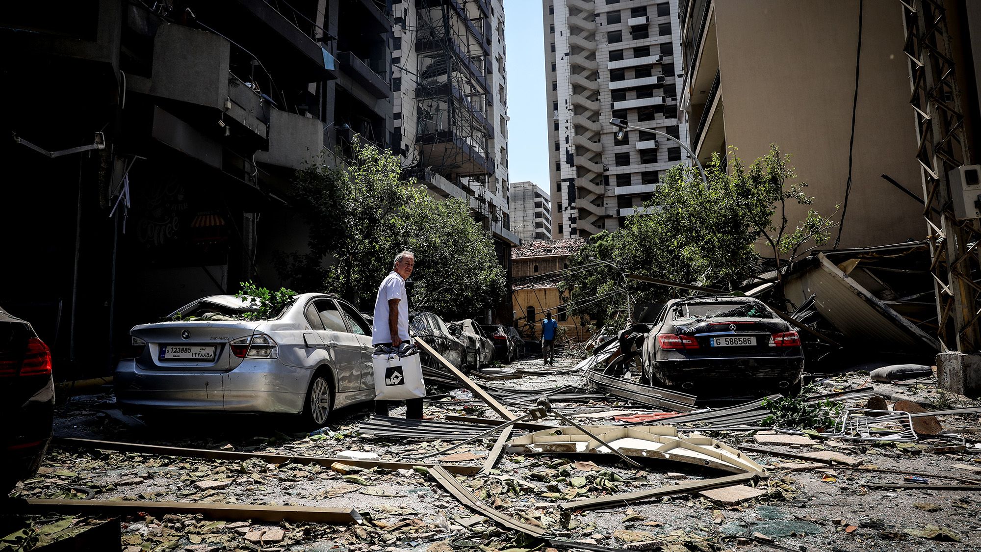
<instances>
[{"instance_id":1,"label":"black car with red taillight, cut off by left edge","mask_svg":"<svg viewBox=\"0 0 981 552\"><path fill-rule=\"evenodd\" d=\"M0 308L0 378L3 378L3 466L0 492L6 496L32 476L44 459L54 423L55 386L51 351L26 321Z\"/></svg>"}]
</instances>

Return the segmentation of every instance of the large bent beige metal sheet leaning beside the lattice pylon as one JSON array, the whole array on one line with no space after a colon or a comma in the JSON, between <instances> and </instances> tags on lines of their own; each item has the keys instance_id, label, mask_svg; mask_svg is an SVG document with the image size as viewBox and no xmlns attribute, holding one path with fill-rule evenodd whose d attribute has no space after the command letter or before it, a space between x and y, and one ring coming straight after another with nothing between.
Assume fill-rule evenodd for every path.
<instances>
[{"instance_id":1,"label":"large bent beige metal sheet leaning beside the lattice pylon","mask_svg":"<svg viewBox=\"0 0 981 552\"><path fill-rule=\"evenodd\" d=\"M788 300L801 304L816 296L815 305L826 320L852 341L881 351L926 353L940 350L934 338L870 294L824 253L819 264L789 275L784 287Z\"/></svg>"}]
</instances>

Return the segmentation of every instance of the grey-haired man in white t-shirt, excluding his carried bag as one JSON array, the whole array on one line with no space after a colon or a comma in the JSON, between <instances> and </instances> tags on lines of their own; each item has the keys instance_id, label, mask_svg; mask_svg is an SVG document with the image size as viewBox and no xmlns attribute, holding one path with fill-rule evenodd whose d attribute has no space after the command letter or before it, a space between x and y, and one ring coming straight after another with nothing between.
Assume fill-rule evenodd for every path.
<instances>
[{"instance_id":1,"label":"grey-haired man in white t-shirt, excluding his carried bag","mask_svg":"<svg viewBox=\"0 0 981 552\"><path fill-rule=\"evenodd\" d=\"M391 272L382 280L375 299L375 323L372 326L372 345L378 347L398 347L403 341L412 342L409 337L409 298L405 294L405 280L412 275L416 265L416 255L412 251L402 251L395 255ZM388 415L390 403L395 401L375 401L375 414ZM405 402L405 417L422 419L423 400L409 399Z\"/></svg>"}]
</instances>

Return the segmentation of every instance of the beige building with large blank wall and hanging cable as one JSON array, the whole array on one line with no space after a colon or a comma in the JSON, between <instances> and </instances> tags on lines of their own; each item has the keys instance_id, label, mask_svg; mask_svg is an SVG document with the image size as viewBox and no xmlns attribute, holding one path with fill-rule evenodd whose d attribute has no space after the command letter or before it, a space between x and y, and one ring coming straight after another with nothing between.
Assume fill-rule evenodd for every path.
<instances>
[{"instance_id":1,"label":"beige building with large blank wall and hanging cable","mask_svg":"<svg viewBox=\"0 0 981 552\"><path fill-rule=\"evenodd\" d=\"M903 9L859 0L683 0L679 94L697 158L736 146L750 161L776 143L816 198L788 202L792 225L808 208L827 216L841 205L840 247L923 239L922 205L882 178L921 194Z\"/></svg>"}]
</instances>

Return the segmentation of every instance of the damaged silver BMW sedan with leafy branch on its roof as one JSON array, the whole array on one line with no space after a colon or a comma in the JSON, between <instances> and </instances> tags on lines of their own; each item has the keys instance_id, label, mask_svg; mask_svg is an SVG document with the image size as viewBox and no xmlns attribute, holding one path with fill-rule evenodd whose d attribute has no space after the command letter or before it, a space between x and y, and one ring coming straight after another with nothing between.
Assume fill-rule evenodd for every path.
<instances>
[{"instance_id":1,"label":"damaged silver BMW sedan with leafy branch on its roof","mask_svg":"<svg viewBox=\"0 0 981 552\"><path fill-rule=\"evenodd\" d=\"M212 296L166 321L134 326L116 367L126 410L270 413L323 426L333 410L375 399L371 326L346 302L303 294L265 319L256 298Z\"/></svg>"}]
</instances>

